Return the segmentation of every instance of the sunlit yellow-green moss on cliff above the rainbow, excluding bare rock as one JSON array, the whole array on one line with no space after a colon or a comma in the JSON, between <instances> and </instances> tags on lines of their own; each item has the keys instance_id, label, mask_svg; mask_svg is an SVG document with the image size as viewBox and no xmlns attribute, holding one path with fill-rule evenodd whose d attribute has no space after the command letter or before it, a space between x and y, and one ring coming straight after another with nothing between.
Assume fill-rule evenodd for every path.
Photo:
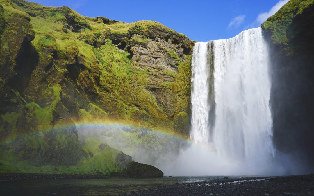
<instances>
[{"instance_id":1,"label":"sunlit yellow-green moss on cliff above the rainbow, excluding bare rock","mask_svg":"<svg viewBox=\"0 0 314 196\"><path fill-rule=\"evenodd\" d=\"M15 7L19 10L18 12L34 13L30 20L36 33L32 45L39 54L39 63L46 66L51 64L52 68L60 73L52 76L49 69L45 70L49 74L48 87L53 92L52 97L48 94L42 94L49 100L47 105L50 104L50 106L47 109L51 112L56 110L62 90L65 90L63 86L62 88L58 86L61 74L72 74L73 78L78 78L79 87L83 88L84 91L94 89L93 93L96 93L100 98L97 103L94 100L89 101L90 106L95 106L91 107L92 109L89 107L79 109L79 115L83 120L84 118L92 119L91 116L96 119L110 117L127 120L131 123L138 122L148 127L155 127L159 124L158 126L166 125L171 128L172 125L169 123L165 112L157 104L154 96L149 93L148 73L158 73L142 70L135 62L131 63L128 58L130 54L121 52L112 45L107 34L108 32L126 34L124 41L128 44L147 44L149 36L161 31L171 36L177 36L178 39L186 38L184 35L154 21L110 22L106 18L82 17L67 7L44 7L22 0L19 0L19 3L19 6ZM42 12L38 12L38 10L42 10ZM65 30L65 25L69 25L69 18L72 18L72 22L84 27L84 29L80 32ZM128 40L127 33L138 35ZM96 43L101 46L99 48L93 47ZM166 52L178 62L178 67L180 67L180 60L176 52L172 49L168 49ZM56 54L57 56L55 56ZM77 68L78 63L84 68ZM69 67L74 67L74 71L69 70ZM83 69L86 71L82 72ZM162 74L178 78L174 83L166 82L161 85L171 89L175 94L177 91L180 94L181 89L183 89L180 83L181 73L164 71ZM38 89L41 88L39 85ZM185 95L189 97L188 93ZM84 93L81 96L85 96ZM178 96L183 96L183 94ZM176 104L178 105L176 113L182 110L180 104L181 102ZM186 105L187 103L184 103L183 108L186 108Z\"/></svg>"}]
</instances>

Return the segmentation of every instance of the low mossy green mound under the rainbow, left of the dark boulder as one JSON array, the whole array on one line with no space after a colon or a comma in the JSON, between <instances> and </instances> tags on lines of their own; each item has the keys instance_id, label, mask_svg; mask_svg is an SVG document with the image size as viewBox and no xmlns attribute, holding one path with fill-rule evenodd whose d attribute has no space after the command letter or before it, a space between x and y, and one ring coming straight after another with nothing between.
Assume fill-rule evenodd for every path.
<instances>
[{"instance_id":1,"label":"low mossy green mound under the rainbow, left of the dark boulder","mask_svg":"<svg viewBox=\"0 0 314 196\"><path fill-rule=\"evenodd\" d=\"M0 145L0 172L126 175L133 161L98 138L79 139L74 127L39 132Z\"/></svg>"}]
</instances>

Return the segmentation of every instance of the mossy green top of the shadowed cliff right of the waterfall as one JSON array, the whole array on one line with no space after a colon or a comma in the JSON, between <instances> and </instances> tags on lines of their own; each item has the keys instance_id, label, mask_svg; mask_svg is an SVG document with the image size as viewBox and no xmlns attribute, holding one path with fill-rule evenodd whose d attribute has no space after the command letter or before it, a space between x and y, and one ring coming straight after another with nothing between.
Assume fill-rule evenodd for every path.
<instances>
[{"instance_id":1,"label":"mossy green top of the shadowed cliff right of the waterfall","mask_svg":"<svg viewBox=\"0 0 314 196\"><path fill-rule=\"evenodd\" d=\"M290 0L266 22L261 24L264 34L270 38L275 45L280 45L285 51L285 55L294 53L300 49L303 43L296 43L298 36L306 37L312 42L311 21L313 19L313 0Z\"/></svg>"}]
</instances>

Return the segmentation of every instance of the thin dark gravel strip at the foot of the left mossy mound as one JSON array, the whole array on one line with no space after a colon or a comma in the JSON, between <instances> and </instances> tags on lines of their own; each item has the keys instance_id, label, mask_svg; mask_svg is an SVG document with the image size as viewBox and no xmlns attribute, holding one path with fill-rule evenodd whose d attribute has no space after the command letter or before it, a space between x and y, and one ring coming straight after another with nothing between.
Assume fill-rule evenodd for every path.
<instances>
[{"instance_id":1,"label":"thin dark gravel strip at the foot of the left mossy mound","mask_svg":"<svg viewBox=\"0 0 314 196\"><path fill-rule=\"evenodd\" d=\"M43 174L43 173L0 173L0 182L21 181L35 179L104 179L104 175L80 175L80 174Z\"/></svg>"}]
</instances>

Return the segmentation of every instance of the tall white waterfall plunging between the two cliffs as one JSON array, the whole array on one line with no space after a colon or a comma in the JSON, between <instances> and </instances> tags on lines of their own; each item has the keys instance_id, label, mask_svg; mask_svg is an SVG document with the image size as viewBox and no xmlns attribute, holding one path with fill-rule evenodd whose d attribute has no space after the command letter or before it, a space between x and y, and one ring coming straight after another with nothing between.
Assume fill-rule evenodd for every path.
<instances>
[{"instance_id":1,"label":"tall white waterfall plunging between the two cliffs","mask_svg":"<svg viewBox=\"0 0 314 196\"><path fill-rule=\"evenodd\" d=\"M191 171L184 174L250 175L276 171L269 63L261 28L243 31L228 40L195 44L190 131L194 144L179 156L193 161L179 164ZM198 167L203 171L195 172Z\"/></svg>"}]
</instances>

